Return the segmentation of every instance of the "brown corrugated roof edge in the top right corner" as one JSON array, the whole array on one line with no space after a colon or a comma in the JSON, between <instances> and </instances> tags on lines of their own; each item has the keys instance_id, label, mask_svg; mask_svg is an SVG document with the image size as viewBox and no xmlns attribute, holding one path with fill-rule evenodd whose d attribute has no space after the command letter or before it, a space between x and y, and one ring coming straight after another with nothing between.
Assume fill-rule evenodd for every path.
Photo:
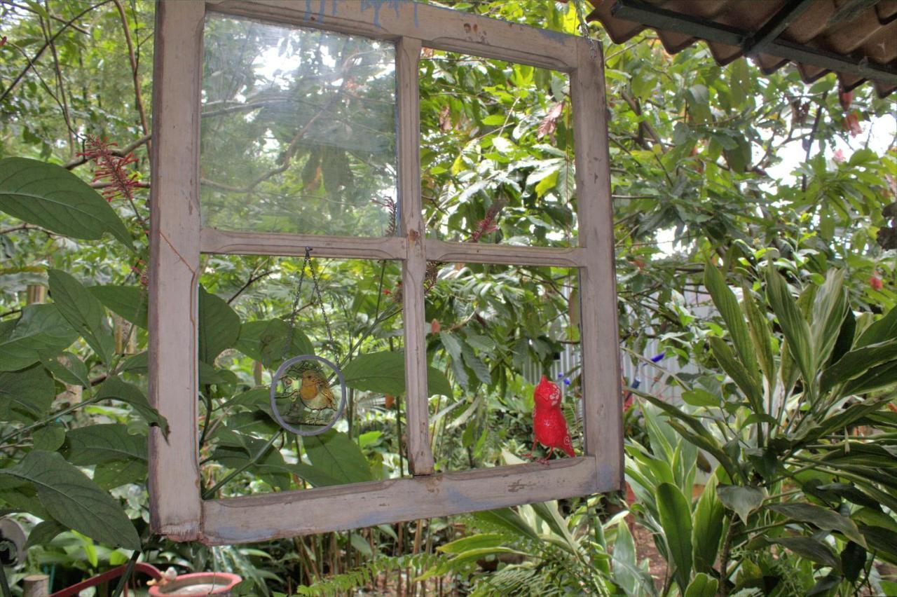
<instances>
[{"instance_id":1,"label":"brown corrugated roof edge in the top right corner","mask_svg":"<svg viewBox=\"0 0 897 597\"><path fill-rule=\"evenodd\" d=\"M751 56L765 74L788 62L805 82L838 74L849 91L866 81L897 90L897 0L589 0L614 43L653 29L675 54L707 41L720 65Z\"/></svg>"}]
</instances>

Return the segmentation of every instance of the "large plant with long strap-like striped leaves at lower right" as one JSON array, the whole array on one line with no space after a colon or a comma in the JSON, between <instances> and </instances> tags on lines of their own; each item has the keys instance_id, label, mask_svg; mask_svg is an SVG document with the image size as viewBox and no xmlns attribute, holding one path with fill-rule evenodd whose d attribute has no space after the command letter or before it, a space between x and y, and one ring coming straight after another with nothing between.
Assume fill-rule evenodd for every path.
<instances>
[{"instance_id":1,"label":"large plant with long strap-like striped leaves at lower right","mask_svg":"<svg viewBox=\"0 0 897 597\"><path fill-rule=\"evenodd\" d=\"M759 284L744 284L739 304L707 265L729 341L711 335L710 356L725 376L701 376L681 408L641 394L669 427L644 410L653 454L630 448L630 482L683 593L692 574L715 576L722 594L854 592L873 582L876 558L897 557L897 310L856 316L839 270L795 298L763 269L762 302ZM698 448L718 469L692 504Z\"/></svg>"}]
</instances>

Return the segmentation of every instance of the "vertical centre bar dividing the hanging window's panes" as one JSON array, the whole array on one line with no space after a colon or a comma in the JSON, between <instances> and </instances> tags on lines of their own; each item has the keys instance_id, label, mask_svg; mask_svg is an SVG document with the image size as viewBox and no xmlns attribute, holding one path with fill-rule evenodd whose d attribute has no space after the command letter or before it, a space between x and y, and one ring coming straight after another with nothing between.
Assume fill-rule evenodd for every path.
<instances>
[{"instance_id":1,"label":"vertical centre bar dividing the hanging window's panes","mask_svg":"<svg viewBox=\"0 0 897 597\"><path fill-rule=\"evenodd\" d=\"M405 325L405 404L407 411L408 470L415 475L433 472L427 392L426 323L423 316L424 255L421 204L420 108L417 62L419 39L403 38L396 44L396 102L398 104L398 196L402 234L407 253L402 264L402 323Z\"/></svg>"}]
</instances>

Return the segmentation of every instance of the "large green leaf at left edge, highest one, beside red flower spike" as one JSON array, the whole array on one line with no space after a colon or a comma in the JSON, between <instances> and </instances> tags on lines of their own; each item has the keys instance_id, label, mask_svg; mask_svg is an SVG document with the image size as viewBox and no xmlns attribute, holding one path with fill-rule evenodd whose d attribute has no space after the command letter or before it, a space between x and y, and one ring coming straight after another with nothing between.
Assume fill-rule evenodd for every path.
<instances>
[{"instance_id":1,"label":"large green leaf at left edge, highest one, beside red flower spike","mask_svg":"<svg viewBox=\"0 0 897 597\"><path fill-rule=\"evenodd\" d=\"M0 160L0 210L66 237L94 239L109 232L133 248L109 202L61 166L26 158Z\"/></svg>"}]
</instances>

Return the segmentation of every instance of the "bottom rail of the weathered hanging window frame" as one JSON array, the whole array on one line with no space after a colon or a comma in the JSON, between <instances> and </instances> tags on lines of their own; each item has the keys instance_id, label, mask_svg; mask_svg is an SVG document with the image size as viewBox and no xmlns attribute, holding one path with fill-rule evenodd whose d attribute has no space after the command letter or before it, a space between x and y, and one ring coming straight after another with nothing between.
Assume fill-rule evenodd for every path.
<instances>
[{"instance_id":1,"label":"bottom rail of the weathered hanging window frame","mask_svg":"<svg viewBox=\"0 0 897 597\"><path fill-rule=\"evenodd\" d=\"M596 482L614 469L594 456L284 491L205 502L203 541L220 545L340 531L431 516L492 510L617 489ZM612 471L599 475L610 480Z\"/></svg>"}]
</instances>

